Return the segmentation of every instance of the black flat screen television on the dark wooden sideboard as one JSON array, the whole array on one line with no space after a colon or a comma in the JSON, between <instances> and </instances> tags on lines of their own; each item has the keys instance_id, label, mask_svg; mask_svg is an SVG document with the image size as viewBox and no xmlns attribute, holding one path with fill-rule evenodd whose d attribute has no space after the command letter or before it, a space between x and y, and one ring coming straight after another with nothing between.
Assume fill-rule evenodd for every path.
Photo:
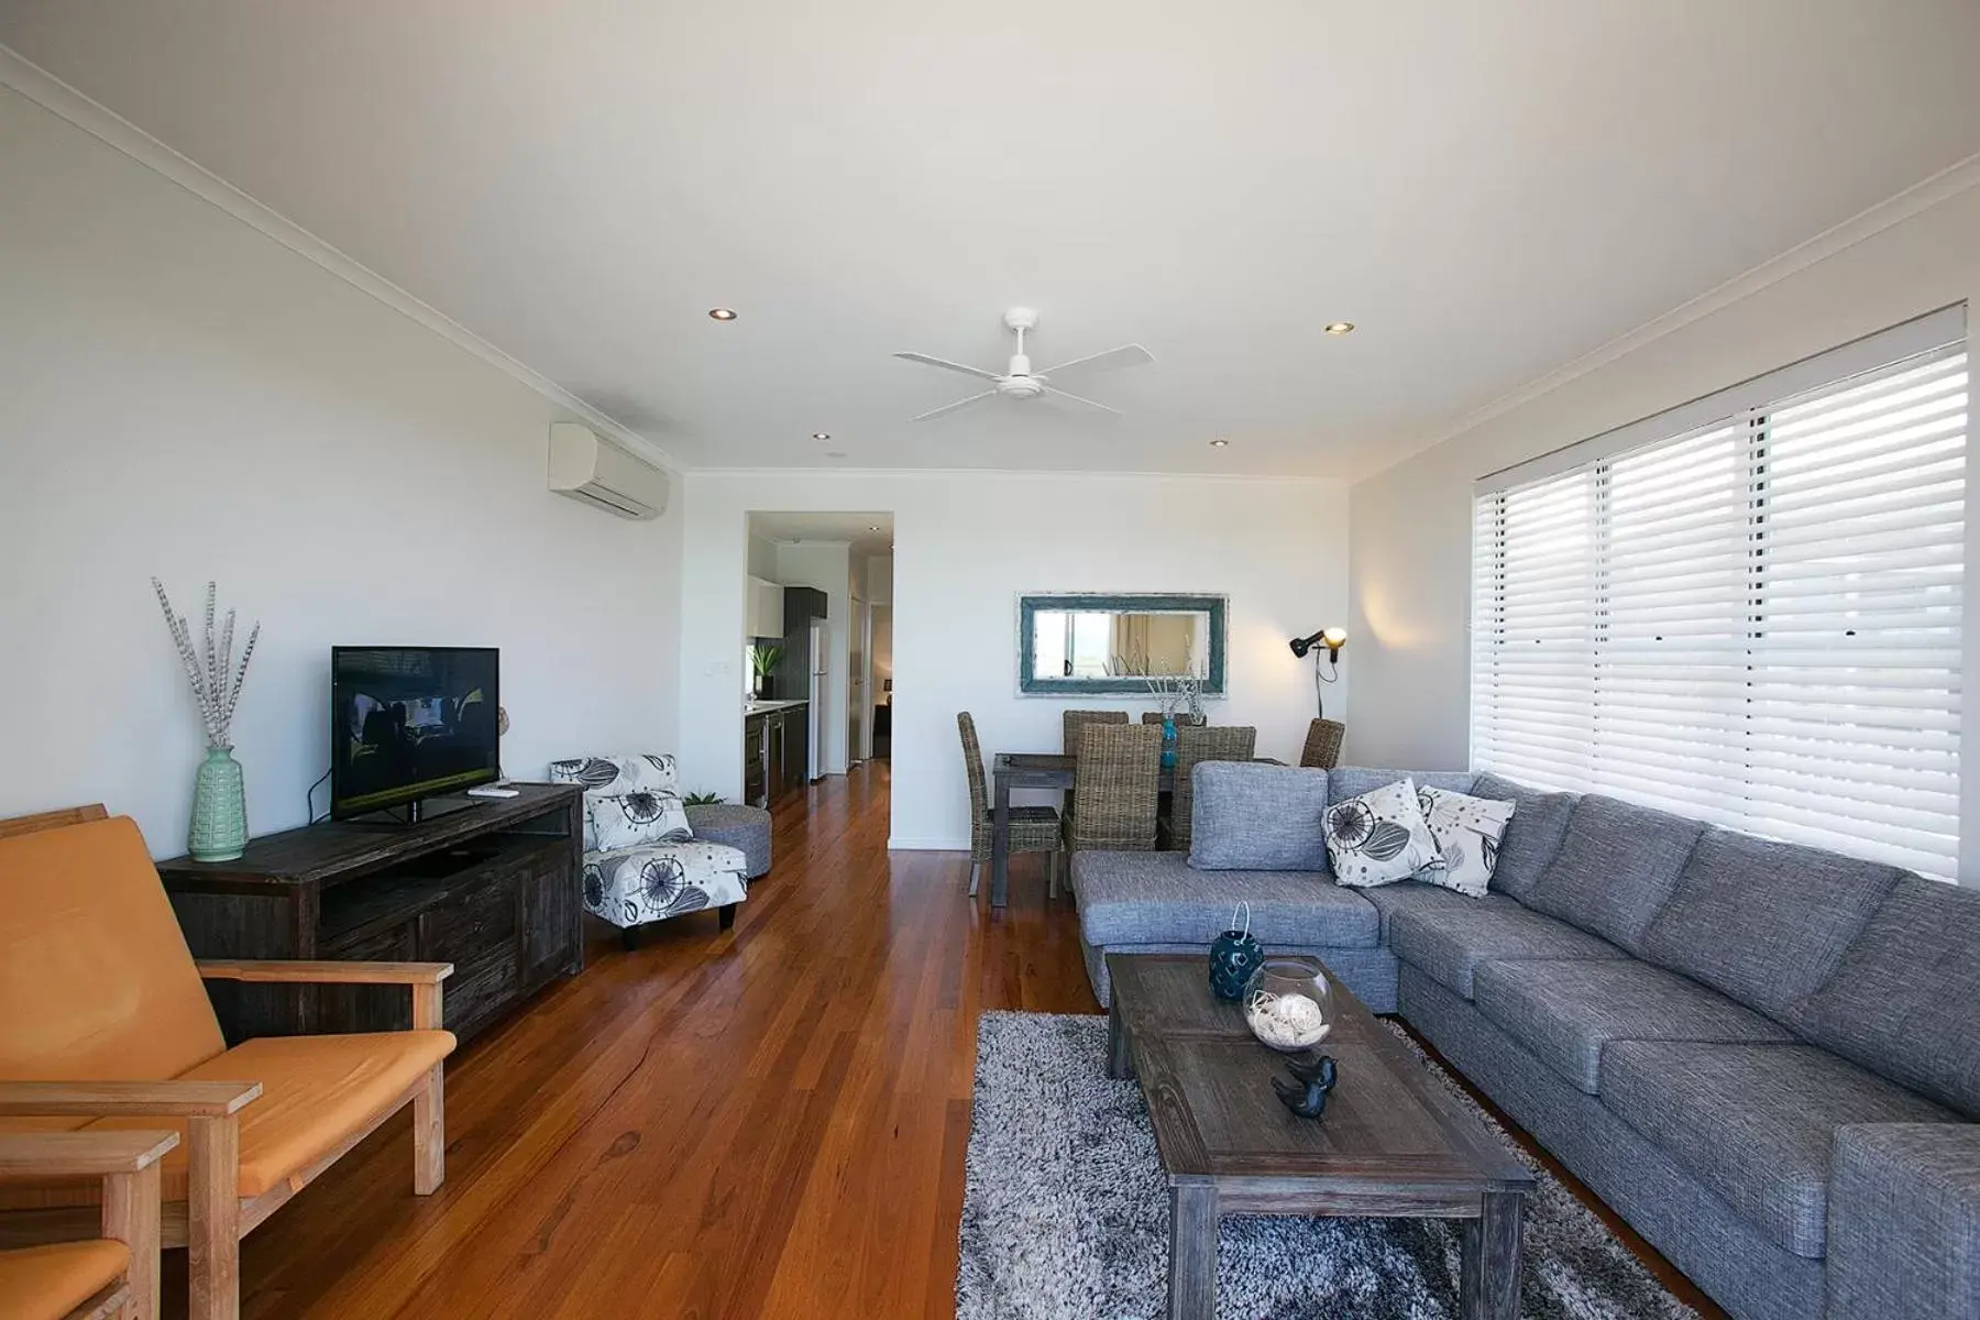
<instances>
[{"instance_id":1,"label":"black flat screen television on the dark wooden sideboard","mask_svg":"<svg viewBox=\"0 0 1980 1320\"><path fill-rule=\"evenodd\" d=\"M331 647L331 815L501 778L495 647Z\"/></svg>"}]
</instances>

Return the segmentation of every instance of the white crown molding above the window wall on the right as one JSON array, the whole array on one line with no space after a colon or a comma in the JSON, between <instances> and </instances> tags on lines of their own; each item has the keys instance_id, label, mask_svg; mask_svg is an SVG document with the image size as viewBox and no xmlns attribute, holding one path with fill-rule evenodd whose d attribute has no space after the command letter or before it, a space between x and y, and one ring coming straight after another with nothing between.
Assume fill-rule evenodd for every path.
<instances>
[{"instance_id":1,"label":"white crown molding above the window wall on the right","mask_svg":"<svg viewBox=\"0 0 1980 1320\"><path fill-rule=\"evenodd\" d=\"M1936 174L1919 180L1917 184L1905 188L1897 196L1885 198L1883 202L1877 202L1869 210L1857 212L1849 220L1843 220L1841 224L1796 243L1788 251L1776 257L1768 257L1750 271L1734 275L1732 279L1715 285L1713 289L1707 289L1695 299L1679 303L1661 317L1645 321L1634 330L1618 334L1606 344L1600 344L1598 348L1592 348L1582 356L1572 358L1562 366L1556 366L1544 376L1536 376L1527 384L1519 386L1517 390L1501 394L1489 404L1473 408L1451 425L1441 427L1432 435L1406 441L1406 445L1400 447L1398 451L1392 451L1392 455L1384 455L1386 459L1384 463L1364 471L1356 471L1352 481L1364 481L1368 477L1374 477L1376 473L1388 471L1390 467L1396 467L1398 463L1416 457L1418 453L1424 453L1426 449L1436 449L1447 439L1455 439L1465 431L1471 431L1501 414L1513 412L1521 404L1531 404L1533 400L1544 394L1552 394L1570 380L1576 380L1580 376L1586 376L1588 372L1608 366L1610 362L1616 362L1618 358L1624 358L1635 352L1637 348L1663 338L1665 334L1681 330L1695 321L1703 321L1715 311L1721 311L1742 299L1748 299L1754 293L1760 293L1762 289L1776 285L1782 279L1788 279L1790 275L1796 275L1798 271L1806 271L1812 265L1828 261L1839 251L1855 247L1863 239L1875 237L1877 234L1889 230L1891 226L1903 224L1913 216L1929 212L1940 202L1956 198L1958 194L1976 186L1980 186L1980 152L1974 152L1964 160L1948 164L1944 170L1938 170Z\"/></svg>"}]
</instances>

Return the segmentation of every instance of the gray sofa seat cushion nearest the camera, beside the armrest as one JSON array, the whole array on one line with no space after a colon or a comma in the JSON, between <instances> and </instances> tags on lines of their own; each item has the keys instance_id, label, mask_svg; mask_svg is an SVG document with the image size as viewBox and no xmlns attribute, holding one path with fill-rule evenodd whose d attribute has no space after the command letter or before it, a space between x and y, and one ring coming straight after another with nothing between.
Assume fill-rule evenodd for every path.
<instances>
[{"instance_id":1,"label":"gray sofa seat cushion nearest the camera, beside the armrest","mask_svg":"<svg viewBox=\"0 0 1980 1320\"><path fill-rule=\"evenodd\" d=\"M1616 1041L1602 1102L1776 1245L1816 1259L1830 1150L1851 1122L1956 1122L1925 1096L1812 1045Z\"/></svg>"}]
</instances>

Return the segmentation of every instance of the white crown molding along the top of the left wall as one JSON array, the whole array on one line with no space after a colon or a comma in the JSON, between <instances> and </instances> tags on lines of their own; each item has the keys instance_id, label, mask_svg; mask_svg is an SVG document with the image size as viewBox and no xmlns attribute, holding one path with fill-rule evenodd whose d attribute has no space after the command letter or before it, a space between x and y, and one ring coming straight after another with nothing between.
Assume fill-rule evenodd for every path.
<instances>
[{"instance_id":1,"label":"white crown molding along the top of the left wall","mask_svg":"<svg viewBox=\"0 0 1980 1320\"><path fill-rule=\"evenodd\" d=\"M156 174L162 174L202 202L218 206L228 216L234 216L234 220L240 220L261 236L275 239L295 255L311 261L331 275L337 275L350 287L368 293L408 321L416 321L434 334L446 338L455 348L471 352L511 380L529 386L558 408L584 420L602 435L610 435L642 459L671 469L677 475L687 471L685 465L661 445L606 416L592 404L586 404L548 376L509 356L463 327L459 321L453 321L440 309L422 303L378 271L339 251L281 212L257 202L228 180L220 178L206 166L172 150L152 135L133 125L129 119L117 115L113 109L91 101L81 91L69 87L59 77L8 46L0 46L0 87L18 91L51 115L75 125L105 146L123 152Z\"/></svg>"}]
</instances>

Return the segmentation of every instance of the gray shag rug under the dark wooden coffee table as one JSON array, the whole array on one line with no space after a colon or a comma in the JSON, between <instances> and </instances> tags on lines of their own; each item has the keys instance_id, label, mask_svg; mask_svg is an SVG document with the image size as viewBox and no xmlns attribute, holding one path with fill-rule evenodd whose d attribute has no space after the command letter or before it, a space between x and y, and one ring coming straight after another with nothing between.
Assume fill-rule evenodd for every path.
<instances>
[{"instance_id":1,"label":"gray shag rug under the dark wooden coffee table","mask_svg":"<svg viewBox=\"0 0 1980 1320\"><path fill-rule=\"evenodd\" d=\"M1140 1086L1107 1079L1107 1019L984 1013L976 1033L956 1320L1160 1316L1168 1185ZM1527 1199L1523 1320L1697 1318L1556 1178L1507 1146L1538 1178ZM1224 1219L1218 1320L1455 1316L1451 1221Z\"/></svg>"}]
</instances>

